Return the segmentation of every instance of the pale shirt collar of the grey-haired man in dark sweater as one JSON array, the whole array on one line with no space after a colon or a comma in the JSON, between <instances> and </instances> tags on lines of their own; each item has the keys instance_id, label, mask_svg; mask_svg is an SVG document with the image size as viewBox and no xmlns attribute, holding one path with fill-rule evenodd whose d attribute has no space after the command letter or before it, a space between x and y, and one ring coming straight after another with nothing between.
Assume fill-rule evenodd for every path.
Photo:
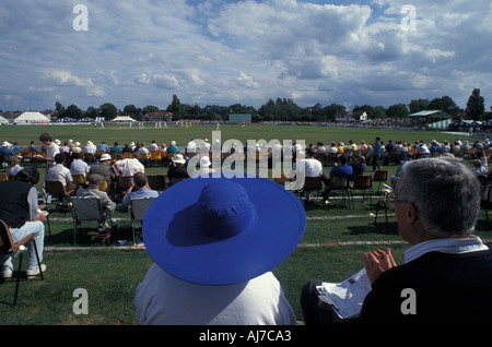
<instances>
[{"instance_id":1,"label":"pale shirt collar of the grey-haired man in dark sweater","mask_svg":"<svg viewBox=\"0 0 492 347\"><path fill-rule=\"evenodd\" d=\"M405 252L405 263L429 252L460 254L488 249L489 248L483 244L478 236L471 236L469 238L435 239L410 247L407 252Z\"/></svg>"}]
</instances>

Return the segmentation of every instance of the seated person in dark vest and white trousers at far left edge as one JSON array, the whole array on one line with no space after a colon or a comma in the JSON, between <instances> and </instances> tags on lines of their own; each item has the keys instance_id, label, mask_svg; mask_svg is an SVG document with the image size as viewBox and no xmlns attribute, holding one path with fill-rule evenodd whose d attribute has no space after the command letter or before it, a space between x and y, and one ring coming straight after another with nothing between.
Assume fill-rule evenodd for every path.
<instances>
[{"instance_id":1,"label":"seated person in dark vest and white trousers at far left edge","mask_svg":"<svg viewBox=\"0 0 492 347\"><path fill-rule=\"evenodd\" d=\"M37 190L35 184L39 181L39 172L34 167L25 168L15 175L13 180L0 182L0 219L10 228L12 239L19 242L26 236L33 234L36 242L39 262L43 262L45 241L46 214L39 213L37 205ZM1 276L12 277L12 256L0 255L2 264ZM42 264L42 271L46 265ZM27 250L27 278L39 274L36 252L32 243Z\"/></svg>"}]
</instances>

